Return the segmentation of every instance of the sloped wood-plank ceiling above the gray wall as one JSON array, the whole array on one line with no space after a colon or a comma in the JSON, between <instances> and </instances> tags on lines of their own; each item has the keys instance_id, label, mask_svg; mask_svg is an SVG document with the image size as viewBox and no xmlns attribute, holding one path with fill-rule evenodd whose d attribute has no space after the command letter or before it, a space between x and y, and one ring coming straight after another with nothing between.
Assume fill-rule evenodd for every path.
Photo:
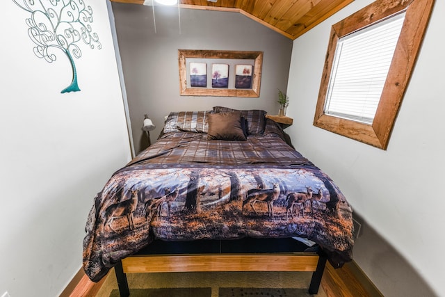
<instances>
[{"instance_id":1,"label":"sloped wood-plank ceiling above the gray wall","mask_svg":"<svg viewBox=\"0 0 445 297\"><path fill-rule=\"evenodd\" d=\"M144 0L110 0L143 4ZM292 40L354 0L179 0L180 8L238 12Z\"/></svg>"}]
</instances>

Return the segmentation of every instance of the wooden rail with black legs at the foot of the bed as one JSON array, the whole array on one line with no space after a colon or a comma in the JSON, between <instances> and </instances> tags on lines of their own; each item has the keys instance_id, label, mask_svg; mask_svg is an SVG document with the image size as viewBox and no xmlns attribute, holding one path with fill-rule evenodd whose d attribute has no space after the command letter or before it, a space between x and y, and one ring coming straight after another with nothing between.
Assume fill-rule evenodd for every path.
<instances>
[{"instance_id":1,"label":"wooden rail with black legs at the foot of the bed","mask_svg":"<svg viewBox=\"0 0 445 297\"><path fill-rule=\"evenodd\" d=\"M126 273L198 271L312 271L309 294L317 294L326 257L316 252L278 254L135 255L115 267L121 297L129 296Z\"/></svg>"}]
</instances>

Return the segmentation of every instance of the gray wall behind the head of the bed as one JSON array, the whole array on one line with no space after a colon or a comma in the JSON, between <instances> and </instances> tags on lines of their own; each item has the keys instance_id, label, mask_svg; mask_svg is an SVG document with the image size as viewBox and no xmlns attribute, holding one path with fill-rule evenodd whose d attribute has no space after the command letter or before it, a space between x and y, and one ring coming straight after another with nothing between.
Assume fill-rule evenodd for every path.
<instances>
[{"instance_id":1,"label":"gray wall behind the head of the bed","mask_svg":"<svg viewBox=\"0 0 445 297\"><path fill-rule=\"evenodd\" d=\"M278 112L277 88L286 90L293 42L239 13L113 3L136 153L147 146L144 113L156 124L170 111L198 111L223 105ZM181 32L179 32L179 14ZM178 49L263 51L259 98L179 95Z\"/></svg>"}]
</instances>

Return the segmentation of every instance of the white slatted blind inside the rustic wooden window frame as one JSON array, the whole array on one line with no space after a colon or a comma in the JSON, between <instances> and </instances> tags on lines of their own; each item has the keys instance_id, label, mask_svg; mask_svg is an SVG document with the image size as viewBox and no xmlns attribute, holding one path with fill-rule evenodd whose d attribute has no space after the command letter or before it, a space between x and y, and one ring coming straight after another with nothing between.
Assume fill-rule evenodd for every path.
<instances>
[{"instance_id":1,"label":"white slatted blind inside the rustic wooden window frame","mask_svg":"<svg viewBox=\"0 0 445 297\"><path fill-rule=\"evenodd\" d=\"M325 113L372 124L405 13L339 39Z\"/></svg>"}]
</instances>

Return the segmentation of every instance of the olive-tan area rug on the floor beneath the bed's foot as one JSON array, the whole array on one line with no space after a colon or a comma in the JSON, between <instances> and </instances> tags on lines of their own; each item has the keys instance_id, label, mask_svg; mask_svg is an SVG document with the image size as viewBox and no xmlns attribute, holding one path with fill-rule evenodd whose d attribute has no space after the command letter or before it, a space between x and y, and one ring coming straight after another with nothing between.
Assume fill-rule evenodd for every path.
<instances>
[{"instance_id":1,"label":"olive-tan area rug on the floor beneath the bed's foot","mask_svg":"<svg viewBox=\"0 0 445 297\"><path fill-rule=\"evenodd\" d=\"M310 272L129 273L130 297L307 297ZM317 297L327 297L322 288ZM95 297L119 297L114 271Z\"/></svg>"}]
</instances>

